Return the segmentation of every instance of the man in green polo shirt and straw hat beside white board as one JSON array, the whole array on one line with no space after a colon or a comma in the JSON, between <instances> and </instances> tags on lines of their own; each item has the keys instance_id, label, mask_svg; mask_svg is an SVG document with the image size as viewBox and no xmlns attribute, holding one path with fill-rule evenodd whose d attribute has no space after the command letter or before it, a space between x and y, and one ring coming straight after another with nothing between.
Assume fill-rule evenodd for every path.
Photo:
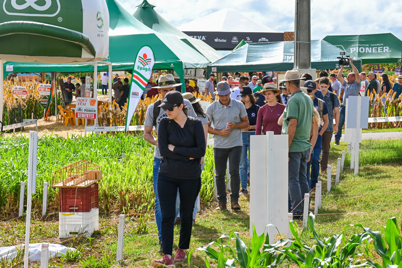
<instances>
[{"instance_id":1,"label":"man in green polo shirt and straw hat beside white board","mask_svg":"<svg viewBox=\"0 0 402 268\"><path fill-rule=\"evenodd\" d=\"M303 79L303 78L302 78ZM289 136L288 189L293 209L293 219L303 214L305 194L310 192L307 179L307 161L310 156L310 132L313 124L314 106L312 99L300 89L298 70L285 74L287 91L291 93L283 111L282 134Z\"/></svg>"}]
</instances>

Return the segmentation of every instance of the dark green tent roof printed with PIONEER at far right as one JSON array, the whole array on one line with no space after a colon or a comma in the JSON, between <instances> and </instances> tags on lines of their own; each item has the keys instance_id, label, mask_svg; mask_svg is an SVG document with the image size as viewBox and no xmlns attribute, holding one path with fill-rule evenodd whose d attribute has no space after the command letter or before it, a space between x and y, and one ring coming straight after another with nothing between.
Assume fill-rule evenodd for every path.
<instances>
[{"instance_id":1,"label":"dark green tent roof printed with PIONEER at far right","mask_svg":"<svg viewBox=\"0 0 402 268\"><path fill-rule=\"evenodd\" d=\"M402 41L391 33L368 35L328 35L328 43L361 59L362 64L400 62Z\"/></svg>"}]
</instances>

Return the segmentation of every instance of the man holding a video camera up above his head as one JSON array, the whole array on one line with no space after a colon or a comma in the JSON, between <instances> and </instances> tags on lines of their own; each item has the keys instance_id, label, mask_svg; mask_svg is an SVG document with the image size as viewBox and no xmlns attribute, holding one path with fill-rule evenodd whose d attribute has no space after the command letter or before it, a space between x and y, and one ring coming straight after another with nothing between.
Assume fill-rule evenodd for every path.
<instances>
[{"instance_id":1,"label":"man holding a video camera up above his head","mask_svg":"<svg viewBox=\"0 0 402 268\"><path fill-rule=\"evenodd\" d=\"M340 116L339 116L338 133L335 134L335 145L339 145L339 141L341 140L341 137L342 137L342 127L345 124L346 99L348 99L349 96L359 96L360 87L361 87L360 73L357 70L357 68L355 67L355 65L353 65L353 59L351 57L349 57L349 60L350 60L350 65L353 68L353 72L350 72L345 80L342 77L343 68L344 68L344 65L342 65L341 69L338 72L338 76L337 76L338 80L345 87L345 89L341 92L341 96L343 94L343 101L342 101L342 106L341 106L341 111L340 111Z\"/></svg>"}]
</instances>

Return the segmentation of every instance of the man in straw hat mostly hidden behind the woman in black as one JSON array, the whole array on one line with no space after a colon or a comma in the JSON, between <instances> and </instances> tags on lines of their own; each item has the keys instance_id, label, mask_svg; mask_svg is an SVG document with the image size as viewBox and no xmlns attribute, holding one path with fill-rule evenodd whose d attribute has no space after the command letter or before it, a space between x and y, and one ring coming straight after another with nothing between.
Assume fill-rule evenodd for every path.
<instances>
[{"instance_id":1,"label":"man in straw hat mostly hidden behind the woman in black","mask_svg":"<svg viewBox=\"0 0 402 268\"><path fill-rule=\"evenodd\" d=\"M158 139L152 135L152 129L155 127L156 134L158 134L159 122L162 118L167 117L166 111L158 108L158 106L163 102L166 93L170 91L174 91L176 86L181 85L181 83L176 83L174 81L173 75L168 73L166 75L161 75L159 77L158 86L154 86L152 88L157 88L159 93L162 95L162 99L159 99L155 103L151 104L148 107L147 114L145 115L144 121L144 139L152 145L155 145L154 152L154 161L153 161L153 183L154 183L154 194L155 194L155 219L156 225L158 227L159 232L159 243L161 248L159 250L160 253L163 252L162 248L162 235L161 225L162 225L162 213L160 210L160 203L158 197L158 189L157 189L157 180L158 180L158 170L159 165L161 163L160 152L158 148ZM194 110L192 109L191 103L188 100L184 100L184 105L187 106L188 116L196 117ZM176 212L177 215L177 212Z\"/></svg>"}]
</instances>

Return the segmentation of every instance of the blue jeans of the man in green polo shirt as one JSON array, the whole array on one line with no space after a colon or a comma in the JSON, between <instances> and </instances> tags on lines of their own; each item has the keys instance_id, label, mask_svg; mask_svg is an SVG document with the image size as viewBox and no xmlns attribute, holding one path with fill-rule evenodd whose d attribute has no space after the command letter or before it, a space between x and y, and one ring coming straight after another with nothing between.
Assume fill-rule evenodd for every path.
<instances>
[{"instance_id":1,"label":"blue jeans of the man in green polo shirt","mask_svg":"<svg viewBox=\"0 0 402 268\"><path fill-rule=\"evenodd\" d=\"M304 152L289 152L289 194L292 202L293 215L303 215L305 194L310 192L307 180L307 160L310 148Z\"/></svg>"}]
</instances>

